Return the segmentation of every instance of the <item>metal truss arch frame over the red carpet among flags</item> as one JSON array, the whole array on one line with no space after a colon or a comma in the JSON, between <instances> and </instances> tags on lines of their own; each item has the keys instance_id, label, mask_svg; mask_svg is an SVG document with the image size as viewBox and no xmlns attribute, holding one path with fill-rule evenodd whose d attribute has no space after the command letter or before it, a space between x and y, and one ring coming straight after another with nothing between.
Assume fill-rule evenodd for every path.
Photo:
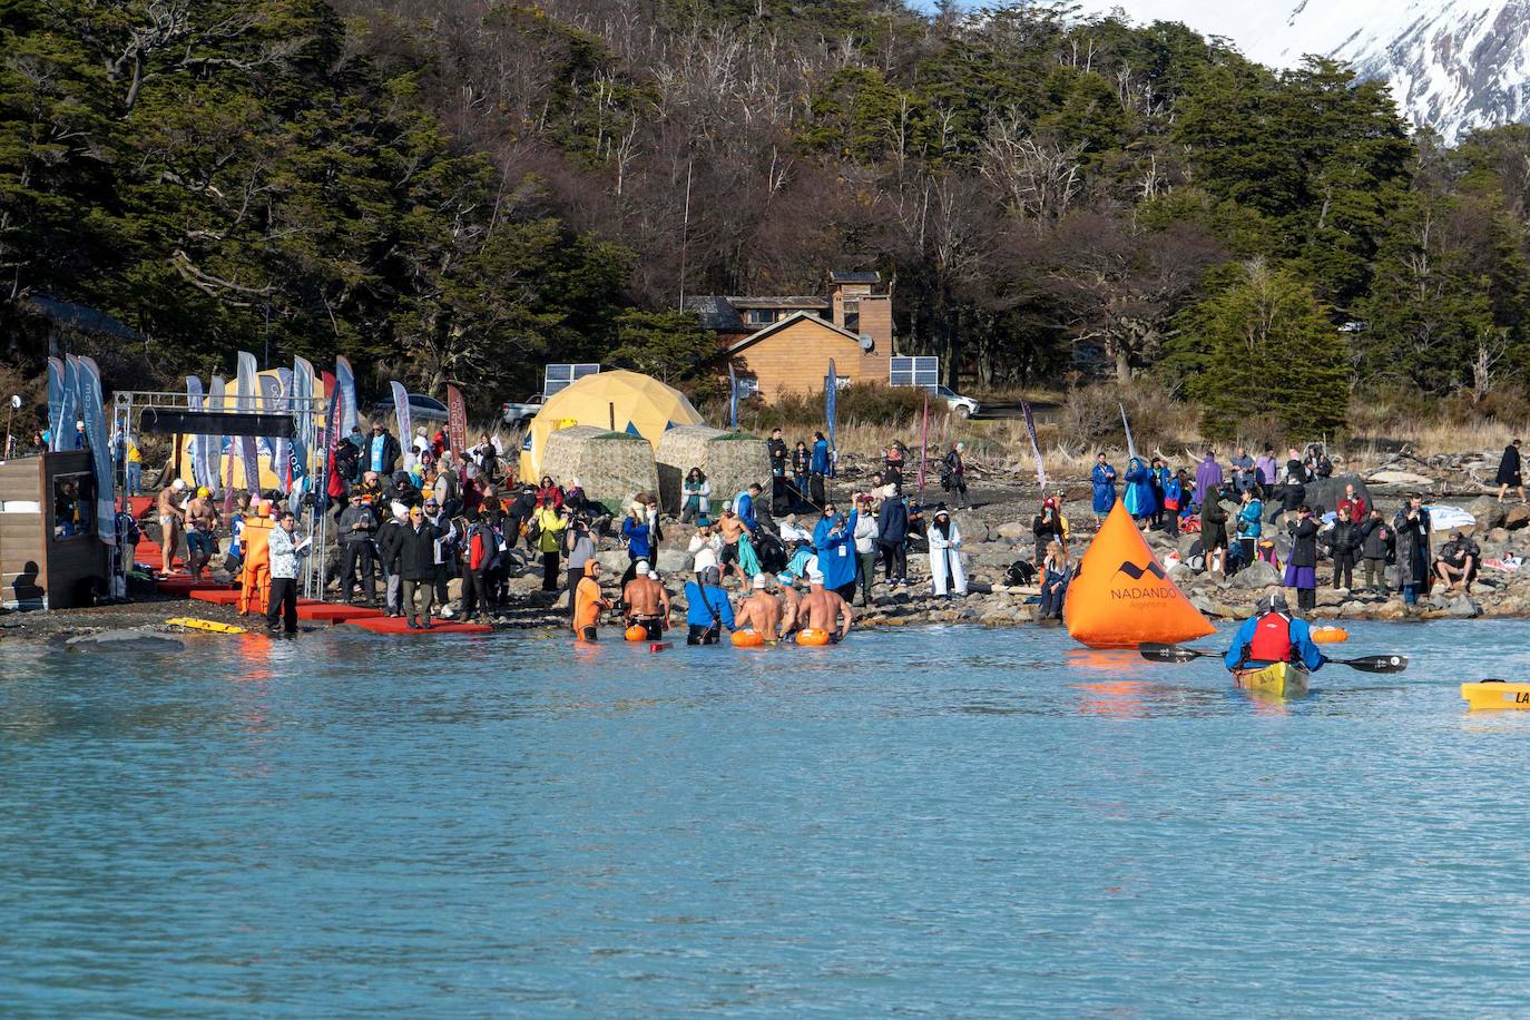
<instances>
[{"instance_id":1,"label":"metal truss arch frame over the red carpet among flags","mask_svg":"<svg viewBox=\"0 0 1530 1020\"><path fill-rule=\"evenodd\" d=\"M321 503L327 500L327 483L326 466L327 466L327 436L324 413L327 410L327 401L324 398L295 398L295 396L262 396L252 395L243 398L246 401L245 407L236 407L233 396L225 396L220 401L220 407L213 407L213 398L207 398L203 408L210 411L251 411L257 414L291 414L292 416L292 437L303 443L303 450L308 453L303 471L309 479L309 497L303 502L303 506L297 508L300 526L303 531L312 535L314 546L312 555L309 555L303 563L303 598L312 598L323 601L324 598L324 551L329 546L329 514L321 512ZM173 411L191 411L197 410L191 407L191 398L187 393L167 393L159 390L119 390L112 399L112 442L116 447L113 450L113 468L112 468L112 485L118 505L127 494L127 436L139 434L139 425L147 410L173 410ZM237 456L239 451L230 451L230 456ZM219 465L222 465L222 451L219 451ZM171 463L176 471L179 471L181 448L176 443L171 453ZM234 486L237 488L237 486ZM306 520L304 520L306 515ZM121 549L121 546L118 546ZM113 573L127 573L127 566L121 563L121 552L113 552L112 569Z\"/></svg>"}]
</instances>

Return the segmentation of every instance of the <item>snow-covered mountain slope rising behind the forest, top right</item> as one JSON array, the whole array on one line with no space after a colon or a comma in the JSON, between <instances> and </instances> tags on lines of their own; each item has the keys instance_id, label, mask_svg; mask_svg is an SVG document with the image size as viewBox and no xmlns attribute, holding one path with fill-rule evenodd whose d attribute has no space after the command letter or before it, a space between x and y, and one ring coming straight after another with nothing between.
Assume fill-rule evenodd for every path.
<instances>
[{"instance_id":1,"label":"snow-covered mountain slope rising behind the forest, top right","mask_svg":"<svg viewBox=\"0 0 1530 1020\"><path fill-rule=\"evenodd\" d=\"M1392 86L1418 124L1447 141L1530 121L1530 0L1083 0L1083 14L1183 21L1227 37L1262 64L1305 54L1351 63Z\"/></svg>"}]
</instances>

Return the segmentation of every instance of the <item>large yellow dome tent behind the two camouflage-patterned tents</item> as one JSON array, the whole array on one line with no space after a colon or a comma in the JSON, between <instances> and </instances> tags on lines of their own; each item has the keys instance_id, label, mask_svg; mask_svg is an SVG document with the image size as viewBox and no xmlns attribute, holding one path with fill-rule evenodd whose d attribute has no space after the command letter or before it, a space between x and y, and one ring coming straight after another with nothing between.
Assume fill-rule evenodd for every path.
<instances>
[{"instance_id":1,"label":"large yellow dome tent behind the two camouflage-patterned tents","mask_svg":"<svg viewBox=\"0 0 1530 1020\"><path fill-rule=\"evenodd\" d=\"M520 448L520 477L542 477L548 436L572 425L591 425L649 440L656 451L664 433L676 425L701 425L702 417L679 390L636 372L615 370L575 379L548 398L531 419ZM558 479L569 485L572 479Z\"/></svg>"}]
</instances>

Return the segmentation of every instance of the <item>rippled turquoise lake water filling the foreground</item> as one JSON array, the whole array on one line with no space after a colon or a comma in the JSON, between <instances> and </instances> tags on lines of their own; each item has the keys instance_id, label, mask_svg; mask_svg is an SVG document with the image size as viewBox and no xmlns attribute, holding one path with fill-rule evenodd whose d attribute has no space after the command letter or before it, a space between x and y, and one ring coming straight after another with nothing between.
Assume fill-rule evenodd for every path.
<instances>
[{"instance_id":1,"label":"rippled turquoise lake water filling the foreground","mask_svg":"<svg viewBox=\"0 0 1530 1020\"><path fill-rule=\"evenodd\" d=\"M0 650L6 1012L1530 1012L1519 622ZM1213 645L1215 639L1201 642Z\"/></svg>"}]
</instances>

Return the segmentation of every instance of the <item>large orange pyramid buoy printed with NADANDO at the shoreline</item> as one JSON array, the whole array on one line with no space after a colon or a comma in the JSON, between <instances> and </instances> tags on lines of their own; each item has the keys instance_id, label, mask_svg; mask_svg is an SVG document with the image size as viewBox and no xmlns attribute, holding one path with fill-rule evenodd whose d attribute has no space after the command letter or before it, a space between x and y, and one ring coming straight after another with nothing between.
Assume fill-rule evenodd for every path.
<instances>
[{"instance_id":1,"label":"large orange pyramid buoy printed with NADANDO at the shoreline","mask_svg":"<svg viewBox=\"0 0 1530 1020\"><path fill-rule=\"evenodd\" d=\"M1175 644L1216 630L1164 573L1120 500L1068 583L1063 619L1073 639L1091 648Z\"/></svg>"}]
</instances>

